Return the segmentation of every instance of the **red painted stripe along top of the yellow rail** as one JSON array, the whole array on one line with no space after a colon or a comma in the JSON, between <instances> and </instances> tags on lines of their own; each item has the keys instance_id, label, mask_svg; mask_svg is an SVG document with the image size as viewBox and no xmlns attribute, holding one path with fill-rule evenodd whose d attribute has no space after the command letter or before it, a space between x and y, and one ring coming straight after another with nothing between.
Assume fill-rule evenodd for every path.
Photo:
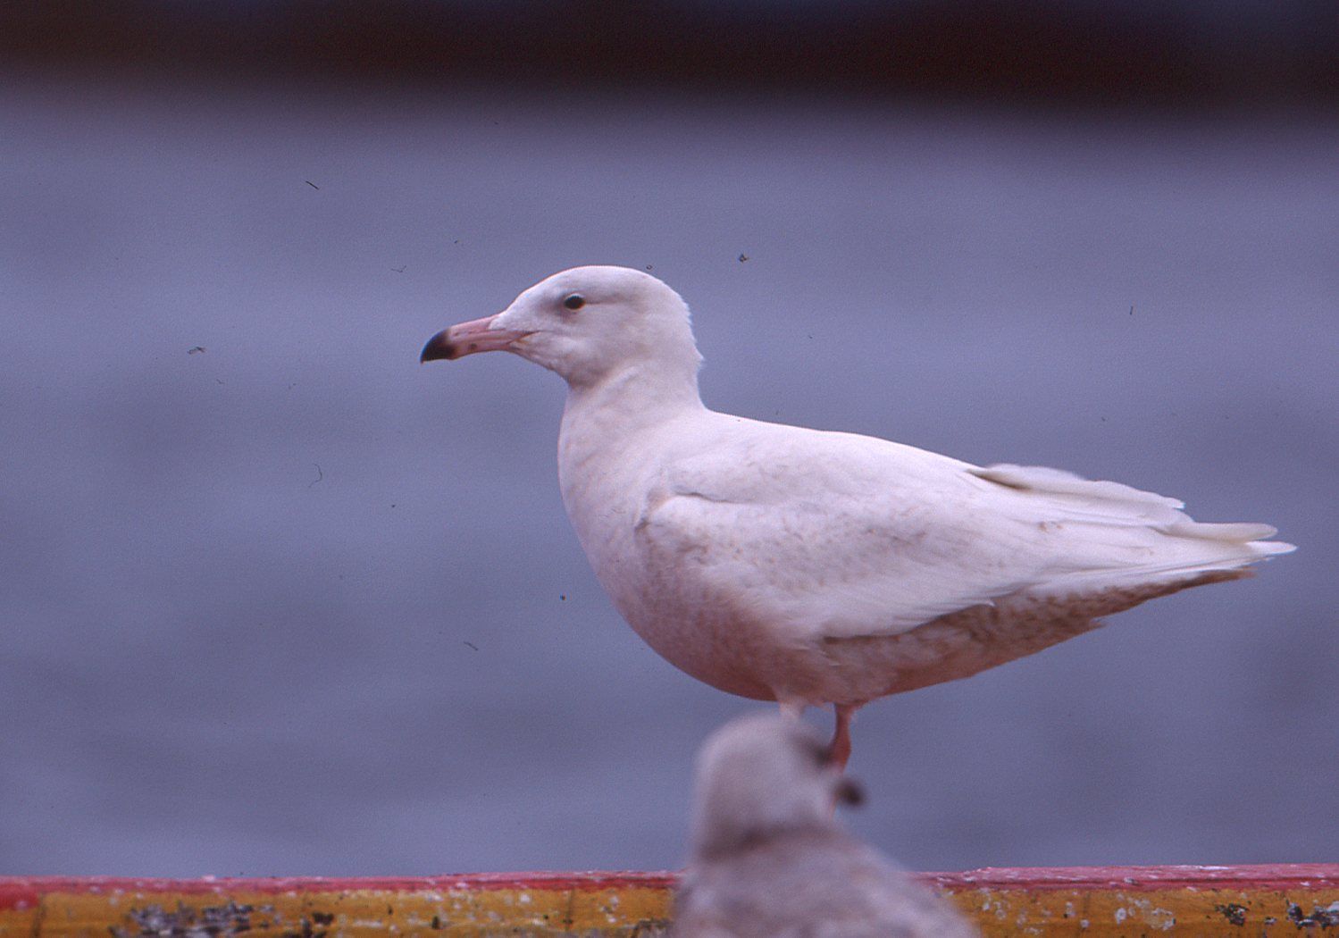
<instances>
[{"instance_id":1,"label":"red painted stripe along top of the yellow rail","mask_svg":"<svg viewBox=\"0 0 1339 938\"><path fill-rule=\"evenodd\" d=\"M1020 867L963 872L925 872L920 879L941 890L1306 890L1339 888L1339 864L1276 863L1267 866L1170 867ZM674 872L470 872L455 876L370 878L218 878L135 879L125 876L0 876L0 910L35 906L50 892L171 892L229 895L236 892L446 892L462 890L608 890L671 888Z\"/></svg>"}]
</instances>

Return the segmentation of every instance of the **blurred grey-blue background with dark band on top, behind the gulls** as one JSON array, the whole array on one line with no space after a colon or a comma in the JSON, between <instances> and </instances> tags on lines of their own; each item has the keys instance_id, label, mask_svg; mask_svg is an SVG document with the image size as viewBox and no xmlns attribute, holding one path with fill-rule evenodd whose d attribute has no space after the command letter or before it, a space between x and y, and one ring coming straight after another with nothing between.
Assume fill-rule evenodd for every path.
<instances>
[{"instance_id":1,"label":"blurred grey-blue background with dark band on top, behind the gulls","mask_svg":"<svg viewBox=\"0 0 1339 938\"><path fill-rule=\"evenodd\" d=\"M1189 0L7 7L0 874L679 864L699 741L759 705L600 591L556 377L418 364L586 263L688 300L716 409L1300 547L869 706L862 836L919 868L1339 859L1336 32Z\"/></svg>"}]
</instances>

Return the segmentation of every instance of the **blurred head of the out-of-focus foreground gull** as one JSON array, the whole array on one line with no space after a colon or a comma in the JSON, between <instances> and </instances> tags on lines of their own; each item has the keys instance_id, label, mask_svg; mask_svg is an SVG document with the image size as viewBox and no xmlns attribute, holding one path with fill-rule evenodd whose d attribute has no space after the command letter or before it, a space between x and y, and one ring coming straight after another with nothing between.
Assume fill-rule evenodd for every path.
<instances>
[{"instance_id":1,"label":"blurred head of the out-of-focus foreground gull","mask_svg":"<svg viewBox=\"0 0 1339 938\"><path fill-rule=\"evenodd\" d=\"M807 725L773 714L734 720L698 753L694 855L720 856L791 831L832 829L833 804L860 788Z\"/></svg>"}]
</instances>

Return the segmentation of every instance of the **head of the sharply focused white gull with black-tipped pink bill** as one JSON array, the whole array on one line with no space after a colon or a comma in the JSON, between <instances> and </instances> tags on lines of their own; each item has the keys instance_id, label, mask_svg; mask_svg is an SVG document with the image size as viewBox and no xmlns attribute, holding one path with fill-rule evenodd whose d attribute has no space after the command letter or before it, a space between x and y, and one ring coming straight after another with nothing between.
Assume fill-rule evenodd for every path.
<instances>
[{"instance_id":1,"label":"head of the sharply focused white gull with black-tipped pink bill","mask_svg":"<svg viewBox=\"0 0 1339 938\"><path fill-rule=\"evenodd\" d=\"M482 351L514 352L573 386L640 366L696 375L702 362L684 302L660 280L629 267L554 273L502 312L442 330L428 339L419 360Z\"/></svg>"}]
</instances>

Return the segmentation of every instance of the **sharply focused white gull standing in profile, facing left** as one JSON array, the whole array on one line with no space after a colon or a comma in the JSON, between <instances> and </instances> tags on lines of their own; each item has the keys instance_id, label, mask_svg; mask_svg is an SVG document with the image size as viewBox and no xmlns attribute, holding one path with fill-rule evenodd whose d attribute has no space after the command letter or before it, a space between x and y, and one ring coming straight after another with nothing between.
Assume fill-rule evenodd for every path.
<instances>
[{"instance_id":1,"label":"sharply focused white gull standing in profile, facing left","mask_svg":"<svg viewBox=\"0 0 1339 938\"><path fill-rule=\"evenodd\" d=\"M578 267L438 332L422 360L505 350L568 382L558 480L619 612L720 690L798 714L976 674L1098 616L1249 575L1291 544L1058 469L708 410L688 307L660 280Z\"/></svg>"}]
</instances>

